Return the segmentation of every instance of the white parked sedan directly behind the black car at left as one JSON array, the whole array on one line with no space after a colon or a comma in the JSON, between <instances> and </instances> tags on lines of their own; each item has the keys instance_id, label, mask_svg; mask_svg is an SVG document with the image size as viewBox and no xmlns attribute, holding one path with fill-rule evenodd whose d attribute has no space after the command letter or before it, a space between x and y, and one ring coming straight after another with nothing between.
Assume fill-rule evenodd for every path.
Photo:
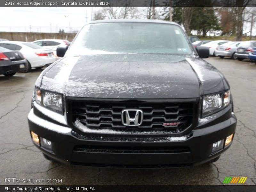
<instances>
[{"instance_id":1,"label":"white parked sedan directly behind the black car at left","mask_svg":"<svg viewBox=\"0 0 256 192\"><path fill-rule=\"evenodd\" d=\"M56 60L52 49L45 49L35 44L22 41L1 41L0 46L13 51L20 51L28 61L28 71L31 68L43 68Z\"/></svg>"}]
</instances>

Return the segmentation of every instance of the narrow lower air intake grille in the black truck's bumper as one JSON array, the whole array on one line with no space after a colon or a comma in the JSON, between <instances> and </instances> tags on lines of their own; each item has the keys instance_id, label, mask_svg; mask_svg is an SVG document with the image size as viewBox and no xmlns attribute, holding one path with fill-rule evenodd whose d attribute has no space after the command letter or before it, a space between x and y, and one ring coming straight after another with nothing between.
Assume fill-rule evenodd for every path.
<instances>
[{"instance_id":1,"label":"narrow lower air intake grille in the black truck's bumper","mask_svg":"<svg viewBox=\"0 0 256 192\"><path fill-rule=\"evenodd\" d=\"M189 153L188 147L184 146L91 146L78 145L74 151L95 153Z\"/></svg>"}]
</instances>

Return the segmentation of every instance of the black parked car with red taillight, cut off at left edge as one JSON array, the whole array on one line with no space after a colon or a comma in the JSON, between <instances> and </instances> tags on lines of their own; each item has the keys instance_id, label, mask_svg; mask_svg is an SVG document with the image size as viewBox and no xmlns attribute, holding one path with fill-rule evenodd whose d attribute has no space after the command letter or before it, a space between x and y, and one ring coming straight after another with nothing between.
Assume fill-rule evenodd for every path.
<instances>
[{"instance_id":1,"label":"black parked car with red taillight, cut off at left edge","mask_svg":"<svg viewBox=\"0 0 256 192\"><path fill-rule=\"evenodd\" d=\"M27 60L19 51L0 47L0 75L13 76L17 72L28 70Z\"/></svg>"}]
</instances>

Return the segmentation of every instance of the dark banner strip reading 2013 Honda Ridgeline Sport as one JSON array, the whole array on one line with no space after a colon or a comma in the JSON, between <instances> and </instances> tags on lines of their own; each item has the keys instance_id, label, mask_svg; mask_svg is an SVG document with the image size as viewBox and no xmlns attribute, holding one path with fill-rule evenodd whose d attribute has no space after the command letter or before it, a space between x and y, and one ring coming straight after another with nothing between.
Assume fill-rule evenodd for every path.
<instances>
[{"instance_id":1,"label":"dark banner strip reading 2013 Honda Ridgeline Sport","mask_svg":"<svg viewBox=\"0 0 256 192\"><path fill-rule=\"evenodd\" d=\"M0 7L255 7L256 0L1 0Z\"/></svg>"}]
</instances>

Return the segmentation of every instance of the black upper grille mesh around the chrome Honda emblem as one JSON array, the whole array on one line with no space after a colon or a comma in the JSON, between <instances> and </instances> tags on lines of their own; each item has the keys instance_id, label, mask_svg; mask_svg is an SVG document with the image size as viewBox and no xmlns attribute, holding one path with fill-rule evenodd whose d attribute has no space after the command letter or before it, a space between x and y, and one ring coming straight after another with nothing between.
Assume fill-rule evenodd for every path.
<instances>
[{"instance_id":1,"label":"black upper grille mesh around the chrome Honda emblem","mask_svg":"<svg viewBox=\"0 0 256 192\"><path fill-rule=\"evenodd\" d=\"M144 101L72 101L72 121L78 120L90 129L121 131L170 131L181 132L188 128L193 118L193 102L155 103ZM140 126L124 126L121 120L123 109L140 109L143 122ZM163 123L180 123L163 126Z\"/></svg>"}]
</instances>

